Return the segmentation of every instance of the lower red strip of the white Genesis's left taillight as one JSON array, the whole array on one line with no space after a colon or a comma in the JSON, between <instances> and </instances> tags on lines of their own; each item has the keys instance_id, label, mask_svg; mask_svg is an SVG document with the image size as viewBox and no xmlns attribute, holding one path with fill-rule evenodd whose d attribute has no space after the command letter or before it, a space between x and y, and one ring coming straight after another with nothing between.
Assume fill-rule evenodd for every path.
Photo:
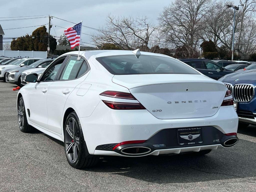
<instances>
[{"instance_id":1,"label":"lower red strip of the white Genesis's left taillight","mask_svg":"<svg viewBox=\"0 0 256 192\"><path fill-rule=\"evenodd\" d=\"M145 109L145 107L140 103L123 103L123 102L114 102L114 101L103 101L103 102L111 109L119 109L119 110Z\"/></svg>"}]
</instances>

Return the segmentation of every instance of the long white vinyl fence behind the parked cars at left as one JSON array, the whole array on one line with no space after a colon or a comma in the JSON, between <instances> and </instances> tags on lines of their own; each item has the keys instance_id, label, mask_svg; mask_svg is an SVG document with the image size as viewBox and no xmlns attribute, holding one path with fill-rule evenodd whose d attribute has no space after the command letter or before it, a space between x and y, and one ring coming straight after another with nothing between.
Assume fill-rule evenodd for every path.
<instances>
[{"instance_id":1,"label":"long white vinyl fence behind the parked cars at left","mask_svg":"<svg viewBox=\"0 0 256 192\"><path fill-rule=\"evenodd\" d=\"M47 51L5 51L5 50L0 50L0 56L46 58L47 57Z\"/></svg>"}]
</instances>

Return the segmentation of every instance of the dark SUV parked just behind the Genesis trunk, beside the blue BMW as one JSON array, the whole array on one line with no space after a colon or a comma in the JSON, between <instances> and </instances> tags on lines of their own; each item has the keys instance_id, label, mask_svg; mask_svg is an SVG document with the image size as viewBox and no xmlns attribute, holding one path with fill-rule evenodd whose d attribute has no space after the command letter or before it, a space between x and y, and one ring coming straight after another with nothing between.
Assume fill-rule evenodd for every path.
<instances>
[{"instance_id":1,"label":"dark SUV parked just behind the Genesis trunk, beside the blue BMW","mask_svg":"<svg viewBox=\"0 0 256 192\"><path fill-rule=\"evenodd\" d=\"M226 74L234 72L219 66L217 63L209 59L179 59L179 60L197 69L199 72L206 75L207 77L210 77L215 80L218 80L219 78L223 77Z\"/></svg>"}]
</instances>

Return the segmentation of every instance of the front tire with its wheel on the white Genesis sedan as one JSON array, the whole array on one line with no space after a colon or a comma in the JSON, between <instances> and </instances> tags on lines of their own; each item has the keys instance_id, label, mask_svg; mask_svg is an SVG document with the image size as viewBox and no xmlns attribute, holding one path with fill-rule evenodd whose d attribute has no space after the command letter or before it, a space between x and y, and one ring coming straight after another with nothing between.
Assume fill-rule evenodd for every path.
<instances>
[{"instance_id":1,"label":"front tire with its wheel on the white Genesis sedan","mask_svg":"<svg viewBox=\"0 0 256 192\"><path fill-rule=\"evenodd\" d=\"M22 107L23 106L23 107ZM34 130L34 127L28 124L27 121L27 115L26 115L26 108L24 105L24 100L23 98L19 98L18 102L18 123L19 123L19 130L24 132L24 133L29 133Z\"/></svg>"}]
</instances>

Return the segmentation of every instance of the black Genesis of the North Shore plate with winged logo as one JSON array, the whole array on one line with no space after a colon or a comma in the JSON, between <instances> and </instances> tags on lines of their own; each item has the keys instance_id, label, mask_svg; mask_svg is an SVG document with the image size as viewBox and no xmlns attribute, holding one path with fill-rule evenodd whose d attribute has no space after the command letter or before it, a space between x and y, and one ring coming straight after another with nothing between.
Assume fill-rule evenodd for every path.
<instances>
[{"instance_id":1,"label":"black Genesis of the North Shore plate with winged logo","mask_svg":"<svg viewBox=\"0 0 256 192\"><path fill-rule=\"evenodd\" d=\"M176 130L178 145L194 145L203 143L202 128L188 127Z\"/></svg>"}]
</instances>

